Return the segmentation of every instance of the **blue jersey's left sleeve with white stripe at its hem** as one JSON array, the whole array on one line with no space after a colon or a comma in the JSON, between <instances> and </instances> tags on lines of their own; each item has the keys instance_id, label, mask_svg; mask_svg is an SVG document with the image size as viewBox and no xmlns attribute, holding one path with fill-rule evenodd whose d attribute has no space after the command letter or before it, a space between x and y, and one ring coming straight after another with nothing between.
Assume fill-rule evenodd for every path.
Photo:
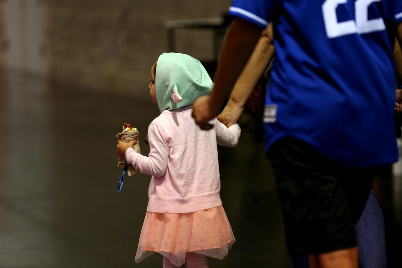
<instances>
[{"instance_id":1,"label":"blue jersey's left sleeve with white stripe at its hem","mask_svg":"<svg viewBox=\"0 0 402 268\"><path fill-rule=\"evenodd\" d=\"M278 0L233 0L229 14L265 29L271 21L274 2Z\"/></svg>"}]
</instances>

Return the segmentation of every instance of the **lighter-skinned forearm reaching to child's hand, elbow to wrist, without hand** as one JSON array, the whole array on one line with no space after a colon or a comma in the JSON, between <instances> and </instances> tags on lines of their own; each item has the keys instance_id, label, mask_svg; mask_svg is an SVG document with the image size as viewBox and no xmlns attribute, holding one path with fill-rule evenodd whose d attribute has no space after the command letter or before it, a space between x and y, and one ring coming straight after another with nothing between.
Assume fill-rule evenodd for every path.
<instances>
[{"instance_id":1,"label":"lighter-skinned forearm reaching to child's hand, elbow to wrist, without hand","mask_svg":"<svg viewBox=\"0 0 402 268\"><path fill-rule=\"evenodd\" d=\"M230 95L230 102L234 105L244 106L258 80L263 75L269 60L271 60L275 52L275 48L271 43L272 41L266 36L258 40L250 59L234 85L232 95Z\"/></svg>"}]
</instances>

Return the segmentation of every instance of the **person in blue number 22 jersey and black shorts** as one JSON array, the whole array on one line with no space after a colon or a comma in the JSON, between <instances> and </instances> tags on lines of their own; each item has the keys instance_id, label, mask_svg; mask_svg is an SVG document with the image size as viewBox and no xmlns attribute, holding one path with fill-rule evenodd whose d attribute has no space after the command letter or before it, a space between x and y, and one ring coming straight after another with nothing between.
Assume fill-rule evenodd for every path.
<instances>
[{"instance_id":1,"label":"person in blue number 22 jersey and black shorts","mask_svg":"<svg viewBox=\"0 0 402 268\"><path fill-rule=\"evenodd\" d=\"M402 39L402 2L236 0L230 14L215 86L194 103L195 121L211 128L273 21L264 121L287 247L310 254L311 267L358 267L354 225L375 167L398 159L392 43L396 31Z\"/></svg>"}]
</instances>

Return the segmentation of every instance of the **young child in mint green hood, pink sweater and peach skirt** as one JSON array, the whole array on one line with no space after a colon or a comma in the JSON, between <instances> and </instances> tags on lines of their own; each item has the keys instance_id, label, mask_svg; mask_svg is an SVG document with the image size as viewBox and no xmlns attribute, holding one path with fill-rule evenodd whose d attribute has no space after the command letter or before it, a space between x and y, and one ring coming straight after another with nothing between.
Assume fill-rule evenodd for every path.
<instances>
[{"instance_id":1,"label":"young child in mint green hood, pink sweater and peach skirt","mask_svg":"<svg viewBox=\"0 0 402 268\"><path fill-rule=\"evenodd\" d=\"M185 54L164 53L151 68L150 95L161 114L148 127L150 154L121 142L117 153L141 173L152 175L147 213L135 262L159 252L163 267L208 267L207 256L223 259L234 235L219 197L217 145L235 147L238 124L226 128L215 118L200 130L194 100L213 82L202 64Z\"/></svg>"}]
</instances>

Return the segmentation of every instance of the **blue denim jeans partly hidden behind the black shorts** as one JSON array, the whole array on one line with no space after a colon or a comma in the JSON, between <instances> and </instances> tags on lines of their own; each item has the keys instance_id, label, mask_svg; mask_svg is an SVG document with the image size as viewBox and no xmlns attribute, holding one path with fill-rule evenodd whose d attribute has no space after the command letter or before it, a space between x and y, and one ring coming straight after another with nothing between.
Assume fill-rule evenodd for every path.
<instances>
[{"instance_id":1,"label":"blue denim jeans partly hidden behind the black shorts","mask_svg":"<svg viewBox=\"0 0 402 268\"><path fill-rule=\"evenodd\" d=\"M355 225L359 260L363 268L386 268L384 216L374 196L374 188L367 199L359 221ZM292 257L293 268L309 268L308 256Z\"/></svg>"}]
</instances>

